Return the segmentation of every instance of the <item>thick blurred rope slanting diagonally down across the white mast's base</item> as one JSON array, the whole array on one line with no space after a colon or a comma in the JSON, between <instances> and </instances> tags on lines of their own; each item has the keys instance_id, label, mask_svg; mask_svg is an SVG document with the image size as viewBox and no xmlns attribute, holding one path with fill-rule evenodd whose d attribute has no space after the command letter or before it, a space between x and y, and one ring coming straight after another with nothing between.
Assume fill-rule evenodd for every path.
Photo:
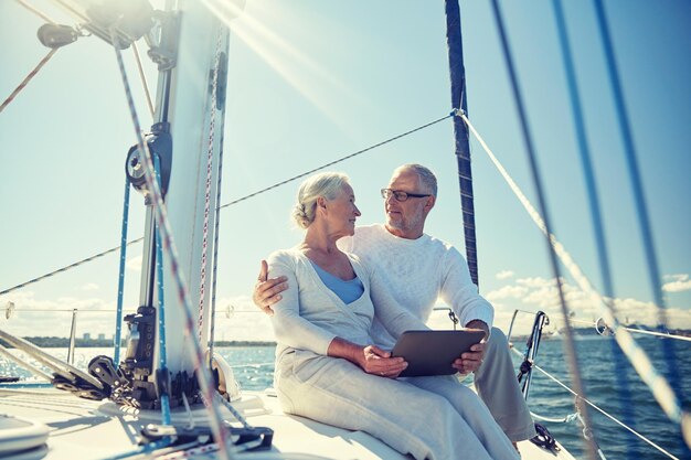
<instances>
[{"instance_id":1,"label":"thick blurred rope slanting diagonally down across the white mast's base","mask_svg":"<svg viewBox=\"0 0 691 460\"><path fill-rule=\"evenodd\" d=\"M153 178L153 165L151 159L151 152L149 151L149 146L145 141L141 127L139 125L139 117L137 116L137 109L135 108L135 101L131 95L131 89L129 86L129 81L127 78L127 73L125 71L125 63L123 61L123 54L120 53L118 44L118 38L115 33L115 30L110 30L110 36L114 43L115 54L117 57L118 68L120 72L120 76L123 78L123 86L125 87L125 96L127 98L127 105L130 111L131 121L135 129L135 136L137 137L137 145L139 151L143 153L143 176L147 182L147 188L151 194L151 202L153 204L153 211L156 214L156 220L159 226L159 231L161 232L161 237L163 240L163 247L170 257L171 271L173 276L173 280L177 286L178 298L180 303L183 307L184 313L184 334L189 338L192 338L192 362L196 370L196 378L199 379L199 386L202 394L206 395L208 400L212 400L213 394L215 393L215 388L212 385L212 378L209 375L209 370L204 366L204 357L201 350L201 344L198 340L193 340L193 331L194 331L194 321L192 320L192 302L190 300L190 293L187 287L187 281L183 278L182 271L180 270L180 263L178 256L178 249L176 243L172 238L172 232L170 229L170 223L168 221L168 211L166 208L166 203L163 202L163 197L161 195L161 190L158 186L158 182ZM223 421L221 418L221 414L219 409L213 404L206 406L209 409L210 421L211 421L211 430L213 432L213 437L219 445L220 457L224 459L231 458L231 452L228 451L228 439L227 432L223 428Z\"/></svg>"}]
</instances>

